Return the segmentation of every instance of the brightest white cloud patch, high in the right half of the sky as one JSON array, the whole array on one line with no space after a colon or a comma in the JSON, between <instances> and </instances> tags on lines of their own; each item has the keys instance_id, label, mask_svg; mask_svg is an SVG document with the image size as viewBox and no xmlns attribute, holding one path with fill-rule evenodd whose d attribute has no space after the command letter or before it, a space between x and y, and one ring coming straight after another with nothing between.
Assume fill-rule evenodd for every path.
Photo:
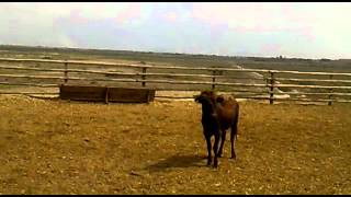
<instances>
[{"instance_id":1,"label":"brightest white cloud patch, high in the right half of the sky","mask_svg":"<svg viewBox=\"0 0 351 197\"><path fill-rule=\"evenodd\" d=\"M292 11L291 3L261 2L223 2L199 3L194 5L192 16L203 23L216 26L228 25L237 32L291 32L308 28L308 21L314 20Z\"/></svg>"}]
</instances>

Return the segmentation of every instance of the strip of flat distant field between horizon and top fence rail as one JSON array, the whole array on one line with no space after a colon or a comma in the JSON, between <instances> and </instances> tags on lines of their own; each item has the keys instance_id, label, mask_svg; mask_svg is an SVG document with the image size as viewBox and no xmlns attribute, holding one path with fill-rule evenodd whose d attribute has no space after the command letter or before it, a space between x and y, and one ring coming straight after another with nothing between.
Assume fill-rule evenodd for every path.
<instances>
[{"instance_id":1,"label":"strip of flat distant field between horizon and top fence rail","mask_svg":"<svg viewBox=\"0 0 351 197\"><path fill-rule=\"evenodd\" d=\"M161 53L138 53L124 50L88 50L88 49L60 49L38 47L0 46L0 57L39 58L52 59L76 59L76 60L124 60L129 62L155 62L167 65L179 65L186 67L230 67L239 63L245 68L298 70L298 71L329 71L351 72L351 59L279 59L258 57L225 57L206 55L182 55Z\"/></svg>"}]
</instances>

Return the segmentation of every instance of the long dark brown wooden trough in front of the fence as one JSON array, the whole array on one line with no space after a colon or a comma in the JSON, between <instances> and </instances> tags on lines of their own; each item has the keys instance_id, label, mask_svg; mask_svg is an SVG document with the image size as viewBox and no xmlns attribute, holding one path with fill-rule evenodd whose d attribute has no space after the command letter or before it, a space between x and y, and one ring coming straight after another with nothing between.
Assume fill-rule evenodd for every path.
<instances>
[{"instance_id":1,"label":"long dark brown wooden trough in front of the fence","mask_svg":"<svg viewBox=\"0 0 351 197\"><path fill-rule=\"evenodd\" d=\"M149 103L154 101L155 90L63 84L59 96L71 101Z\"/></svg>"}]
</instances>

